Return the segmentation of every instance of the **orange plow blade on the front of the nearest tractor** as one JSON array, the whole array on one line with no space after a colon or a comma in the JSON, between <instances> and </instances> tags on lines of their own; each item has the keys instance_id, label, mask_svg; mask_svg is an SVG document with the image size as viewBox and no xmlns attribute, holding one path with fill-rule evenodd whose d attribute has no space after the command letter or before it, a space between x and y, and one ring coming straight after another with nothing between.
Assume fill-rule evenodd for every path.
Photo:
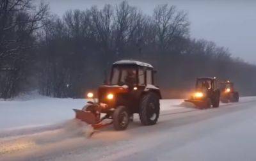
<instances>
[{"instance_id":1,"label":"orange plow blade on the front of the nearest tractor","mask_svg":"<svg viewBox=\"0 0 256 161\"><path fill-rule=\"evenodd\" d=\"M99 123L97 118L95 117L95 115L92 112L82 111L82 110L78 110L78 109L73 109L73 110L76 112L77 119L80 119L81 121L84 121L90 125Z\"/></svg>"}]
</instances>

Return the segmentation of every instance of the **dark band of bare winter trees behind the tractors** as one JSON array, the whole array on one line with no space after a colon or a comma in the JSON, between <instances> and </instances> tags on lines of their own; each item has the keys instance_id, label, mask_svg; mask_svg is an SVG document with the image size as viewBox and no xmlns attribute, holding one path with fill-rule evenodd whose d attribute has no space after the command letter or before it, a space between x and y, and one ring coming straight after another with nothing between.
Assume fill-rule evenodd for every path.
<instances>
[{"instance_id":1,"label":"dark band of bare winter trees behind the tractors","mask_svg":"<svg viewBox=\"0 0 256 161\"><path fill-rule=\"evenodd\" d=\"M234 59L227 49L189 36L188 15L167 4L145 15L126 1L51 15L45 4L5 0L0 4L0 97L24 91L81 98L104 81L114 61L151 63L164 96L193 88L195 77L236 82L256 94L256 66Z\"/></svg>"}]
</instances>

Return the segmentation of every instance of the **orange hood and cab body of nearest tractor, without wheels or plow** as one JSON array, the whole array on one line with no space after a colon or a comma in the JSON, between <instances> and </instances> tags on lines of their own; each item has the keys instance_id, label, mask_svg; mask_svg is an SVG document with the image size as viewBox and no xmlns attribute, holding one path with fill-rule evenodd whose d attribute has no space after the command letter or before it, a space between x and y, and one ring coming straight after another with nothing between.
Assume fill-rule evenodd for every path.
<instances>
[{"instance_id":1,"label":"orange hood and cab body of nearest tractor, without wheels or plow","mask_svg":"<svg viewBox=\"0 0 256 161\"><path fill-rule=\"evenodd\" d=\"M159 89L154 86L153 66L140 61L117 61L113 63L107 85L99 86L99 102L115 108L125 105L132 113L138 113L141 95L154 92L161 98ZM110 99L111 98L111 99ZM108 113L108 109L102 110Z\"/></svg>"}]
</instances>

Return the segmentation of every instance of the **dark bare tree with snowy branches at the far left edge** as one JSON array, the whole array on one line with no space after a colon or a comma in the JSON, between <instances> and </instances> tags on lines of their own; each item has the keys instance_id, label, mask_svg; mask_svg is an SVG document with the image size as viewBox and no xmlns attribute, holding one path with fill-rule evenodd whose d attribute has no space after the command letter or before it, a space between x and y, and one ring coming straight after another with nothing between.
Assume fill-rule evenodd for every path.
<instances>
[{"instance_id":1,"label":"dark bare tree with snowy branches at the far left edge","mask_svg":"<svg viewBox=\"0 0 256 161\"><path fill-rule=\"evenodd\" d=\"M20 79L25 79L24 68L29 61L28 50L34 47L33 34L47 15L47 5L36 9L31 0L4 0L0 2L0 73L6 77L0 86L3 98L13 96ZM30 53L31 54L31 53Z\"/></svg>"}]
</instances>

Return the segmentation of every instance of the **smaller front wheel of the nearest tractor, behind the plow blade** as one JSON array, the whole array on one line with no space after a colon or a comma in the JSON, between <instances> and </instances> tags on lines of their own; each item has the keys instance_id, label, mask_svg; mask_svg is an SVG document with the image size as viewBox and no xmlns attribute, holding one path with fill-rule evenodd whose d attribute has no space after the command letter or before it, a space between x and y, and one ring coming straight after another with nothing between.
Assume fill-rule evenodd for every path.
<instances>
[{"instance_id":1,"label":"smaller front wheel of the nearest tractor, behind the plow blade","mask_svg":"<svg viewBox=\"0 0 256 161\"><path fill-rule=\"evenodd\" d=\"M113 126L115 130L125 130L129 125L129 112L123 105L118 106L113 113Z\"/></svg>"}]
</instances>

